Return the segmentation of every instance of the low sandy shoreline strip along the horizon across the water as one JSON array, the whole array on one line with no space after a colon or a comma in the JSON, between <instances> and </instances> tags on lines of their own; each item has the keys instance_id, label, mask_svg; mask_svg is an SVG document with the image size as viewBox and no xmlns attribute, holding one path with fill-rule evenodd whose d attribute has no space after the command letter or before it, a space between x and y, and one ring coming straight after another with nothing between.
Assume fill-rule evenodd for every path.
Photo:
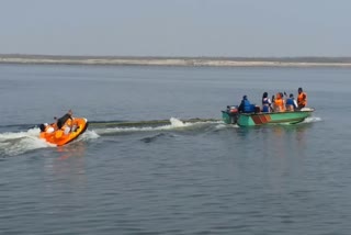
<instances>
[{"instance_id":1,"label":"low sandy shoreline strip along the horizon across the water","mask_svg":"<svg viewBox=\"0 0 351 235\"><path fill-rule=\"evenodd\" d=\"M0 64L203 67L351 67L351 57L146 57L0 55Z\"/></svg>"}]
</instances>

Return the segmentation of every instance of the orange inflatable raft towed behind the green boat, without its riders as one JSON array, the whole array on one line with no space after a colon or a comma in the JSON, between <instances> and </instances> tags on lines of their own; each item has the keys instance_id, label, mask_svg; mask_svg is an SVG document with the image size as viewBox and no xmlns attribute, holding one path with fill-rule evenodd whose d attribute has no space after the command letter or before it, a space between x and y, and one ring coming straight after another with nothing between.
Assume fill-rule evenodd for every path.
<instances>
[{"instance_id":1,"label":"orange inflatable raft towed behind the green boat, without its riders","mask_svg":"<svg viewBox=\"0 0 351 235\"><path fill-rule=\"evenodd\" d=\"M64 131L65 125L61 130L56 130L50 133L41 132L39 137L57 146L66 145L75 141L79 135L83 134L88 127L88 120L84 118L73 118L72 122L73 127L68 134Z\"/></svg>"}]
</instances>

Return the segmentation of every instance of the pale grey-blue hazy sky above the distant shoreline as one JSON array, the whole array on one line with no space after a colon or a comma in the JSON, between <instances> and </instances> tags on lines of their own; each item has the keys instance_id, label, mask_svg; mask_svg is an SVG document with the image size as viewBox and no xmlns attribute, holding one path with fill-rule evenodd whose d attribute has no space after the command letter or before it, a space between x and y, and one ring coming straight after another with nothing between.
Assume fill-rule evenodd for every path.
<instances>
[{"instance_id":1,"label":"pale grey-blue hazy sky above the distant shoreline","mask_svg":"<svg viewBox=\"0 0 351 235\"><path fill-rule=\"evenodd\" d=\"M351 56L350 0L0 3L0 54Z\"/></svg>"}]
</instances>

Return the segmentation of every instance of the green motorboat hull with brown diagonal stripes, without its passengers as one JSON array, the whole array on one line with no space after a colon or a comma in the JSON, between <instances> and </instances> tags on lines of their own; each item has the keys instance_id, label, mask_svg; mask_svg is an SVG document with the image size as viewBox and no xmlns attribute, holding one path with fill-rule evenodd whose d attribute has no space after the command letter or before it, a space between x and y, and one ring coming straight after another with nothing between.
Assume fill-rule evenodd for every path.
<instances>
[{"instance_id":1,"label":"green motorboat hull with brown diagonal stripes, without its passengers","mask_svg":"<svg viewBox=\"0 0 351 235\"><path fill-rule=\"evenodd\" d=\"M296 111L262 113L259 108L256 112L241 113L238 107L227 107L226 111L222 111L222 119L226 124L237 124L239 126L256 126L265 124L296 124L303 122L310 116L315 109L303 108Z\"/></svg>"}]
</instances>

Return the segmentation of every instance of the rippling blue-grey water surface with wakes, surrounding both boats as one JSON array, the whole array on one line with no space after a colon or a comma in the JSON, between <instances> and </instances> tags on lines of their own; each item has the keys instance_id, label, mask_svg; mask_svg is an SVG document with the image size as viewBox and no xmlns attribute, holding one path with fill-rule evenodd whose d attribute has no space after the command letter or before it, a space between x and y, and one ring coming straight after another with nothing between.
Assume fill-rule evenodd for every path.
<instances>
[{"instance_id":1,"label":"rippling blue-grey water surface with wakes, surrounding both boats","mask_svg":"<svg viewBox=\"0 0 351 235\"><path fill-rule=\"evenodd\" d=\"M348 68L0 65L3 234L350 234ZM308 93L297 125L237 127L244 94ZM64 146L37 124L91 121Z\"/></svg>"}]
</instances>

